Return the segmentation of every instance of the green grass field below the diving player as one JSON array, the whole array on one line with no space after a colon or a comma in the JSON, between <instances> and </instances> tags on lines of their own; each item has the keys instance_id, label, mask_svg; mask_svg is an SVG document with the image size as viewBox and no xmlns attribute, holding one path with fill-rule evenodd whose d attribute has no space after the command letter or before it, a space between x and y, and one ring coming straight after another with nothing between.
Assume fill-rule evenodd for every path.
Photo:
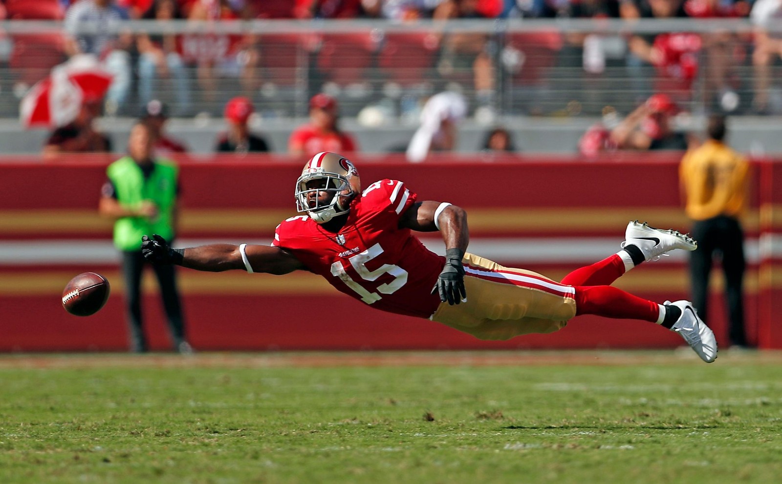
<instances>
[{"instance_id":1,"label":"green grass field below the diving player","mask_svg":"<svg viewBox=\"0 0 782 484\"><path fill-rule=\"evenodd\" d=\"M5 484L782 475L777 353L5 356L0 392Z\"/></svg>"}]
</instances>

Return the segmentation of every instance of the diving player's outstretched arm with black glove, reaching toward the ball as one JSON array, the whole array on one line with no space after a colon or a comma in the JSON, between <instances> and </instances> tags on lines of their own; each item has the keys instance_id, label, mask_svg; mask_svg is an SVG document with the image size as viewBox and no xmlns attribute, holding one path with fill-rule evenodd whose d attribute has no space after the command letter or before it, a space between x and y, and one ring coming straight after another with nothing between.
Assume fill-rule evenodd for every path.
<instances>
[{"instance_id":1,"label":"diving player's outstretched arm with black glove, reaching toward the ball","mask_svg":"<svg viewBox=\"0 0 782 484\"><path fill-rule=\"evenodd\" d=\"M206 246L173 249L160 235L146 235L142 238L142 253L152 264L177 264L197 271L221 272L231 269L249 269L267 274L288 274L304 269L296 257L284 249L272 246L241 246L231 244L209 244Z\"/></svg>"}]
</instances>

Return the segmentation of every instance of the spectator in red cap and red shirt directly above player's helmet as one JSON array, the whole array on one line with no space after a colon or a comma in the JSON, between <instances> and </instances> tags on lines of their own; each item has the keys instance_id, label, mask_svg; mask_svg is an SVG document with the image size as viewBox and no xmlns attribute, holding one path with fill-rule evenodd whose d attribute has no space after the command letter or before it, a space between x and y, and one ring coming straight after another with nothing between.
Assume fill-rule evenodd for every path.
<instances>
[{"instance_id":1,"label":"spectator in red cap and red shirt directly above player's helmet","mask_svg":"<svg viewBox=\"0 0 782 484\"><path fill-rule=\"evenodd\" d=\"M288 141L292 155L314 156L319 152L354 152L356 142L339 130L338 106L330 95L316 94L310 99L310 123L296 128Z\"/></svg>"}]
</instances>

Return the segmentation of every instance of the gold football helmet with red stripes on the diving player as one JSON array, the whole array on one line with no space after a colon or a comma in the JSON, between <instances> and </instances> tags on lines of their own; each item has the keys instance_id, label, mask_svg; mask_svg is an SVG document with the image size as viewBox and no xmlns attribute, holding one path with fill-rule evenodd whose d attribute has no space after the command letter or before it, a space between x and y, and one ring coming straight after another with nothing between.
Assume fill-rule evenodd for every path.
<instances>
[{"instance_id":1,"label":"gold football helmet with red stripes on the diving player","mask_svg":"<svg viewBox=\"0 0 782 484\"><path fill-rule=\"evenodd\" d=\"M332 195L321 200L318 199L321 192ZM319 152L307 161L296 180L296 210L307 212L318 224L325 224L347 213L350 201L359 193L361 178L353 163L337 153Z\"/></svg>"}]
</instances>

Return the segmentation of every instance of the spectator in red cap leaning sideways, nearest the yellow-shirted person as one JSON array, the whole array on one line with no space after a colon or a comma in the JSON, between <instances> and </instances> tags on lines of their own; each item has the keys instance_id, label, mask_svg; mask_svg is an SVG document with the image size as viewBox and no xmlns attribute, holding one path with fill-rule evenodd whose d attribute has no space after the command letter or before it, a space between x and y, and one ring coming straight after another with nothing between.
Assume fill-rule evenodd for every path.
<instances>
[{"instance_id":1,"label":"spectator in red cap leaning sideways, nearest the yellow-shirted person","mask_svg":"<svg viewBox=\"0 0 782 484\"><path fill-rule=\"evenodd\" d=\"M687 135L671 127L677 110L668 95L655 94L612 130L612 142L620 149L685 150Z\"/></svg>"}]
</instances>

